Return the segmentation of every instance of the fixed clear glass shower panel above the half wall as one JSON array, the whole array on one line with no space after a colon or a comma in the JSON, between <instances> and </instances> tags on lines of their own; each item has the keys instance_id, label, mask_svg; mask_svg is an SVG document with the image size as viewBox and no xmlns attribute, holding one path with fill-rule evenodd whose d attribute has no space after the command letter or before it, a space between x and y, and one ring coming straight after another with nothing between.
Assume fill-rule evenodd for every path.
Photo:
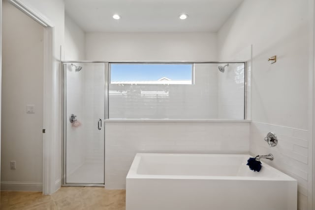
<instances>
[{"instance_id":1,"label":"fixed clear glass shower panel above the half wall","mask_svg":"<svg viewBox=\"0 0 315 210\"><path fill-rule=\"evenodd\" d=\"M110 63L109 119L244 119L245 63Z\"/></svg>"}]
</instances>

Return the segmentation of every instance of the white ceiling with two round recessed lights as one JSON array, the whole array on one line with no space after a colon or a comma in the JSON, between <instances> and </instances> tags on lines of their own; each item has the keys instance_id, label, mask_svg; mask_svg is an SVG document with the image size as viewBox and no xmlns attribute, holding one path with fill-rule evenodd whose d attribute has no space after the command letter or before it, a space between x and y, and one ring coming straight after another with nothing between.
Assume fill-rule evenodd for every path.
<instances>
[{"instance_id":1,"label":"white ceiling with two round recessed lights","mask_svg":"<svg viewBox=\"0 0 315 210\"><path fill-rule=\"evenodd\" d=\"M216 32L243 0L65 0L84 31ZM113 14L122 18L114 20ZM189 18L180 20L186 13Z\"/></svg>"}]
</instances>

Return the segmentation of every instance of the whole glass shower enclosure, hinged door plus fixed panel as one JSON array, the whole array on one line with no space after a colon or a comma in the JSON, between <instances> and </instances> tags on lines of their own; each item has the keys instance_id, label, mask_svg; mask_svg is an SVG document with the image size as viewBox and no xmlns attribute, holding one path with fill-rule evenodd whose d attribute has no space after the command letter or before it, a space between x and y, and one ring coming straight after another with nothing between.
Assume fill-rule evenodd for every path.
<instances>
[{"instance_id":1,"label":"whole glass shower enclosure, hinged door plus fixed panel","mask_svg":"<svg viewBox=\"0 0 315 210\"><path fill-rule=\"evenodd\" d=\"M247 119L246 75L242 61L63 62L63 185L105 184L105 119Z\"/></svg>"}]
</instances>

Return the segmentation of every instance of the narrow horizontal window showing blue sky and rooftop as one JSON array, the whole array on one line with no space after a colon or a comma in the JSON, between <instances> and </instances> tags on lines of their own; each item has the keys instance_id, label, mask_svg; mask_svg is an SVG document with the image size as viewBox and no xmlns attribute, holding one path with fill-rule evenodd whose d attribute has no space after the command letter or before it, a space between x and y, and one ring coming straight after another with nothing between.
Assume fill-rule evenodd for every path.
<instances>
[{"instance_id":1,"label":"narrow horizontal window showing blue sky and rooftop","mask_svg":"<svg viewBox=\"0 0 315 210\"><path fill-rule=\"evenodd\" d=\"M193 64L111 63L111 84L192 84Z\"/></svg>"}]
</instances>

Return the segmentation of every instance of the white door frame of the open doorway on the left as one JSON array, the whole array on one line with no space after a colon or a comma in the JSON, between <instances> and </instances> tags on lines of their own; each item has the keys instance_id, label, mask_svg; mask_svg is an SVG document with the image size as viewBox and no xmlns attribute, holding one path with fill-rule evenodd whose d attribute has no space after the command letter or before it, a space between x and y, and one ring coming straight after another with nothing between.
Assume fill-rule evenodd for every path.
<instances>
[{"instance_id":1,"label":"white door frame of the open doorway on the left","mask_svg":"<svg viewBox=\"0 0 315 210\"><path fill-rule=\"evenodd\" d=\"M34 21L44 27L44 66L43 66L43 194L51 194L59 188L54 182L55 160L54 146L57 138L54 122L58 120L53 106L58 92L58 84L55 79L55 26L42 14L23 4L20 0L8 0L9 3L30 16ZM1 13L2 14L2 13ZM2 35L2 33L1 33ZM56 64L57 63L57 64Z\"/></svg>"}]
</instances>

